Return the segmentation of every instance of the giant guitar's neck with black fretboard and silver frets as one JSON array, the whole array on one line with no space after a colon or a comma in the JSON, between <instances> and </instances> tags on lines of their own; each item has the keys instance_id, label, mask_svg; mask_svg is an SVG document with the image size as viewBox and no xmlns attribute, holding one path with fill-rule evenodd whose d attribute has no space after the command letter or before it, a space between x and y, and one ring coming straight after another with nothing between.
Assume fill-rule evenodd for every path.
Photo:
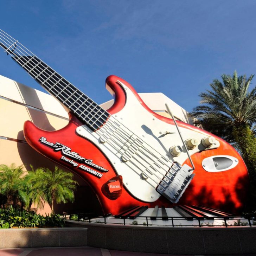
<instances>
[{"instance_id":1,"label":"giant guitar's neck with black fretboard and silver frets","mask_svg":"<svg viewBox=\"0 0 256 256\"><path fill-rule=\"evenodd\" d=\"M92 130L98 129L106 122L109 116L107 111L2 30L0 46L45 90Z\"/></svg>"}]
</instances>

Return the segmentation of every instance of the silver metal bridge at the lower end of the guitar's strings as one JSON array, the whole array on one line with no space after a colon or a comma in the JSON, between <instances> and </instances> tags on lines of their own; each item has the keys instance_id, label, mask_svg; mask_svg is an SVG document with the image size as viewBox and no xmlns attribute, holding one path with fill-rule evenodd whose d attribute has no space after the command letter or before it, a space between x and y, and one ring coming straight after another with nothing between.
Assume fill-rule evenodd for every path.
<instances>
[{"instance_id":1,"label":"silver metal bridge at the lower end of the guitar's strings","mask_svg":"<svg viewBox=\"0 0 256 256\"><path fill-rule=\"evenodd\" d=\"M178 203L180 197L185 192L194 177L191 167L183 165L181 168L173 165L165 174L157 187L157 191L170 200L172 203Z\"/></svg>"}]
</instances>

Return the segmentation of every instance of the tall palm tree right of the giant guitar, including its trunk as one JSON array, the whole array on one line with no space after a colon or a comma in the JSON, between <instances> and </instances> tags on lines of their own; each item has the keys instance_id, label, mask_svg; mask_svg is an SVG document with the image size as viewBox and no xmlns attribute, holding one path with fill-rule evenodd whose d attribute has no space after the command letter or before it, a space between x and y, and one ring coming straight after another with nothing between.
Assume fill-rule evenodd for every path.
<instances>
[{"instance_id":1,"label":"tall palm tree right of the giant guitar, including its trunk","mask_svg":"<svg viewBox=\"0 0 256 256\"><path fill-rule=\"evenodd\" d=\"M243 157L251 174L256 177L256 87L248 91L254 75L249 78L222 75L214 79L212 90L199 94L199 105L190 113L196 125L231 143Z\"/></svg>"}]
</instances>

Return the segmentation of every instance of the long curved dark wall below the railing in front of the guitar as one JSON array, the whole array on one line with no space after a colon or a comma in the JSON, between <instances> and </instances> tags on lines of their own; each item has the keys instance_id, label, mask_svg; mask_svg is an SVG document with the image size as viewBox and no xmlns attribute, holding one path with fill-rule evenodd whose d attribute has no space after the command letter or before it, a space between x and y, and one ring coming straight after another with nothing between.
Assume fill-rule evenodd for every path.
<instances>
[{"instance_id":1,"label":"long curved dark wall below the railing in front of the guitar","mask_svg":"<svg viewBox=\"0 0 256 256\"><path fill-rule=\"evenodd\" d=\"M88 246L163 254L251 254L256 252L256 227L160 228L66 221L87 227Z\"/></svg>"}]
</instances>

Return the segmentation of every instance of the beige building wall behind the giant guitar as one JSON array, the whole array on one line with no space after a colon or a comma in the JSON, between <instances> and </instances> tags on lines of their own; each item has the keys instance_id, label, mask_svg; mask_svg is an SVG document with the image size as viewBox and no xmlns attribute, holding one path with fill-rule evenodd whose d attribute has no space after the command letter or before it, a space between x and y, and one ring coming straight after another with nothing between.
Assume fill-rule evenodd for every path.
<instances>
[{"instance_id":1,"label":"beige building wall behind the giant guitar","mask_svg":"<svg viewBox=\"0 0 256 256\"><path fill-rule=\"evenodd\" d=\"M106 93L108 92L106 91ZM164 94L143 93L140 96L148 107L156 113L170 117L165 108L165 103L168 103L176 119L191 123L191 120L187 118L187 112ZM101 106L108 109L113 102L111 100ZM23 135L23 125L25 121L30 120L44 130L63 128L68 124L69 119L68 110L62 104L49 94L0 76L0 116L0 164L24 165L24 171L30 169L30 164L34 168L48 167L54 169L56 165L54 162L46 159L27 144ZM75 193L76 202L56 206L57 212L72 209L101 211L98 200L87 183L76 174L74 174L74 179L79 183ZM87 195L87 198L84 197L84 194ZM49 214L51 209L46 204L44 209L37 209L37 212Z\"/></svg>"}]
</instances>

